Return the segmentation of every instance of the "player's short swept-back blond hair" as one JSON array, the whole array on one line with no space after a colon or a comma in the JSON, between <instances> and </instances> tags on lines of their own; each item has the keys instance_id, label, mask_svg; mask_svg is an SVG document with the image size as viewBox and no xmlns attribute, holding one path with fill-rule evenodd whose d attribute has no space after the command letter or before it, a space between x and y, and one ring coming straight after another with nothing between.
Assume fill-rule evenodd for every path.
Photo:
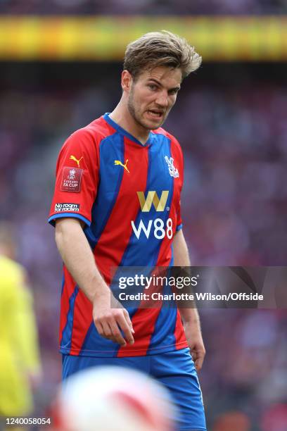
<instances>
[{"instance_id":1,"label":"player's short swept-back blond hair","mask_svg":"<svg viewBox=\"0 0 287 431\"><path fill-rule=\"evenodd\" d=\"M167 30L150 32L127 45L124 70L134 79L144 70L158 66L180 68L182 78L197 70L202 58L186 39Z\"/></svg>"}]
</instances>

